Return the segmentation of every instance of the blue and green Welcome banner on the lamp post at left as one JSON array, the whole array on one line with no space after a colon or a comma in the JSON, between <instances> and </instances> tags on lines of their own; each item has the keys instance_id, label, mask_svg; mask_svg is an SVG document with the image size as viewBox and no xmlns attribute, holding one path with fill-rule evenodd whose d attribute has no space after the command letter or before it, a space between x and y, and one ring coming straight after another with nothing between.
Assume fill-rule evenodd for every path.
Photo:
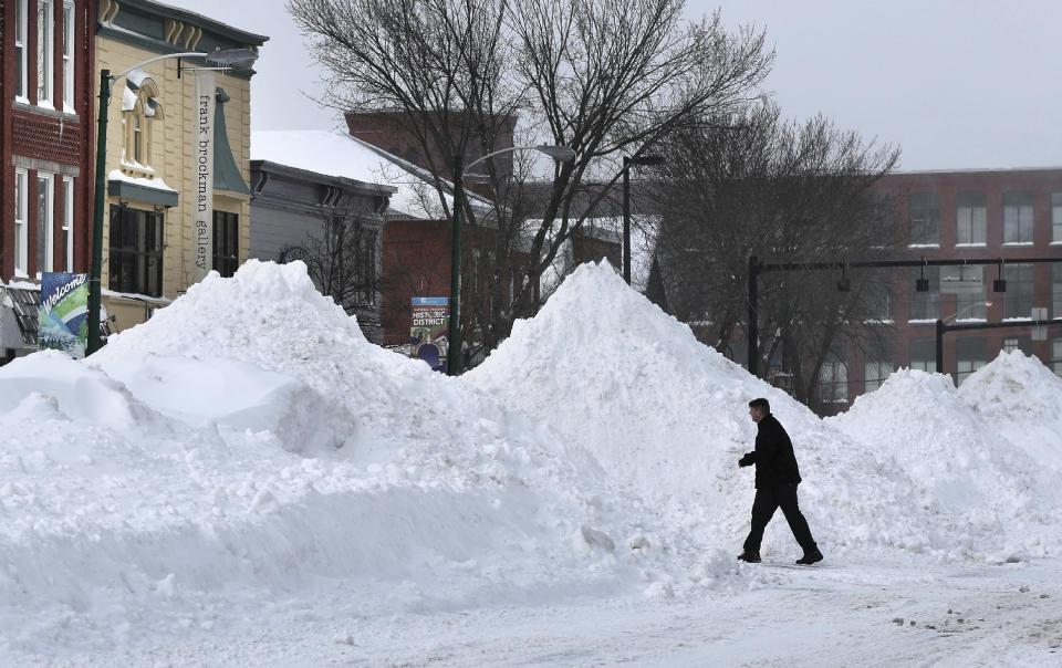
<instances>
[{"instance_id":1,"label":"blue and green Welcome banner on the lamp post at left","mask_svg":"<svg viewBox=\"0 0 1062 668\"><path fill-rule=\"evenodd\" d=\"M88 338L88 274L44 272L37 313L37 346L81 359Z\"/></svg>"}]
</instances>

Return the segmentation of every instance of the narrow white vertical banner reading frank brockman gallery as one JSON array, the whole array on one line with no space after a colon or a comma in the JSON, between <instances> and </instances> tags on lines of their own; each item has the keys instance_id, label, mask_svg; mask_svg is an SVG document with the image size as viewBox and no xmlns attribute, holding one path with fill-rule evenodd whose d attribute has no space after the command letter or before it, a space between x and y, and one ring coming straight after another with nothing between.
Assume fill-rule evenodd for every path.
<instances>
[{"instance_id":1,"label":"narrow white vertical banner reading frank brockman gallery","mask_svg":"<svg viewBox=\"0 0 1062 668\"><path fill-rule=\"evenodd\" d=\"M191 161L196 184L195 263L192 281L214 269L214 72L196 72L196 134Z\"/></svg>"}]
</instances>

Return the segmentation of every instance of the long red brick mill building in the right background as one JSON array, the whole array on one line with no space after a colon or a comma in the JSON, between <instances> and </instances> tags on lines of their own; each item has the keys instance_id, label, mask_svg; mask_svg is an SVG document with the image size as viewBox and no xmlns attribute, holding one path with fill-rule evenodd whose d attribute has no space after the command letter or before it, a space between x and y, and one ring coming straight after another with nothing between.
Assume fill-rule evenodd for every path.
<instances>
[{"instance_id":1,"label":"long red brick mill building in the right background","mask_svg":"<svg viewBox=\"0 0 1062 668\"><path fill-rule=\"evenodd\" d=\"M1047 309L1062 319L1062 262L1030 264L1030 258L1062 260L1062 168L913 171L886 176L879 189L895 201L909 234L909 251L930 260L999 258L1000 265L926 268L928 292L915 280L923 270L898 270L887 299L893 322L889 349L843 355L825 374L824 395L851 401L875 389L892 369L936 368L936 320L998 323L1030 319ZM996 293L993 280L1007 281ZM948 333L944 369L957 383L999 354L1020 348L1062 375L1062 326L1048 341L1029 327Z\"/></svg>"}]
</instances>

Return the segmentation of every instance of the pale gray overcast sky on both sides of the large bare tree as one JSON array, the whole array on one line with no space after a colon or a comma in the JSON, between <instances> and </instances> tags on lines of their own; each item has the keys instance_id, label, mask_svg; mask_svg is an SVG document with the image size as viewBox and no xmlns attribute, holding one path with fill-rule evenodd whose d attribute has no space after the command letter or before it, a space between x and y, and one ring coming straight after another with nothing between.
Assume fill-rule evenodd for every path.
<instances>
[{"instance_id":1,"label":"pale gray overcast sky on both sides of the large bare tree","mask_svg":"<svg viewBox=\"0 0 1062 668\"><path fill-rule=\"evenodd\" d=\"M269 35L254 129L332 128L319 70L282 0L163 0ZM822 112L903 148L902 169L1062 165L1059 0L689 0L767 30L767 87L783 112Z\"/></svg>"}]
</instances>

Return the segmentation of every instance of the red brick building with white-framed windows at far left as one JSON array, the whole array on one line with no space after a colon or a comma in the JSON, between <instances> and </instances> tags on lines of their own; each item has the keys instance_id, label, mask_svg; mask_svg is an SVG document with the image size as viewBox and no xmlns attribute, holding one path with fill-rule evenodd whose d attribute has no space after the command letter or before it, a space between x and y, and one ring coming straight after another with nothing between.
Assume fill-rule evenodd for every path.
<instances>
[{"instance_id":1,"label":"red brick building with white-framed windows at far left","mask_svg":"<svg viewBox=\"0 0 1062 668\"><path fill-rule=\"evenodd\" d=\"M0 357L35 346L22 294L87 269L95 2L0 0ZM11 284L15 283L14 286ZM12 326L14 323L14 326ZM22 334L19 334L23 331Z\"/></svg>"}]
</instances>

